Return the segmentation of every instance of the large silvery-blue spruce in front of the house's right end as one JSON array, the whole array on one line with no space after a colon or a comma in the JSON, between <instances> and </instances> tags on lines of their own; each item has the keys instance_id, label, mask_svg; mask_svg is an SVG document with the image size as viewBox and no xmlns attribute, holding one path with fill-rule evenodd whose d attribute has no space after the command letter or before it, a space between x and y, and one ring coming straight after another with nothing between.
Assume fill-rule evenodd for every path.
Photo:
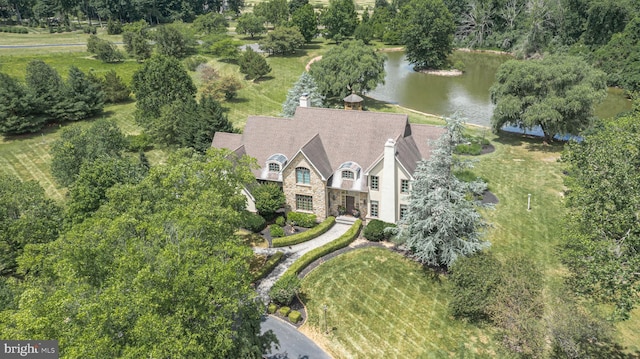
<instances>
[{"instance_id":1,"label":"large silvery-blue spruce in front of the house's right end","mask_svg":"<svg viewBox=\"0 0 640 359\"><path fill-rule=\"evenodd\" d=\"M454 170L468 164L453 157L462 140L462 122L447 120L447 132L436 142L428 160L414 174L409 210L401 220L400 238L422 263L449 268L460 256L471 255L489 243L481 239L487 226L479 203L469 199L486 189L484 182L462 182Z\"/></svg>"}]
</instances>

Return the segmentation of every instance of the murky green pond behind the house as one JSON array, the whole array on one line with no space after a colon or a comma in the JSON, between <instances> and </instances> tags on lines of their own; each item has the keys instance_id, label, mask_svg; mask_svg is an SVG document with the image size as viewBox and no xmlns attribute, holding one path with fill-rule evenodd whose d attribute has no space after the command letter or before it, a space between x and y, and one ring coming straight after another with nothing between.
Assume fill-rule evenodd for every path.
<instances>
[{"instance_id":1,"label":"murky green pond behind the house","mask_svg":"<svg viewBox=\"0 0 640 359\"><path fill-rule=\"evenodd\" d=\"M427 75L413 71L403 52L389 52L385 65L385 84L379 85L367 96L403 107L439 116L458 112L467 122L489 126L493 104L489 88L496 71L507 55L456 51L455 61L465 64L461 76ZM596 108L602 118L615 116L631 109L631 101L622 90L609 89L607 98Z\"/></svg>"}]
</instances>

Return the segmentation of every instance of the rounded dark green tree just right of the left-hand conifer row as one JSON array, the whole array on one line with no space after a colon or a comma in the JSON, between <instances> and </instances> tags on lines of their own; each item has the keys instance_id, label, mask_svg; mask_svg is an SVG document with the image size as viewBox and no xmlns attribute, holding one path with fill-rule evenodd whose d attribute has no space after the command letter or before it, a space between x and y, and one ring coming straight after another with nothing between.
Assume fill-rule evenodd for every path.
<instances>
[{"instance_id":1,"label":"rounded dark green tree just right of the left-hand conifer row","mask_svg":"<svg viewBox=\"0 0 640 359\"><path fill-rule=\"evenodd\" d=\"M150 130L160 117L162 106L195 98L196 87L176 58L154 56L133 74L131 87L136 95L136 122Z\"/></svg>"}]
</instances>

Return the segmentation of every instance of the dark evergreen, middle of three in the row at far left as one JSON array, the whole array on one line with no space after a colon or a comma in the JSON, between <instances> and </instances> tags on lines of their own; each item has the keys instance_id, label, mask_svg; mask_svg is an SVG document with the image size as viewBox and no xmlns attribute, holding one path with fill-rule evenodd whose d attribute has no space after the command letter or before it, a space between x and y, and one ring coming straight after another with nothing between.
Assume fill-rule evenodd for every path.
<instances>
[{"instance_id":1,"label":"dark evergreen, middle of three in the row at far left","mask_svg":"<svg viewBox=\"0 0 640 359\"><path fill-rule=\"evenodd\" d=\"M63 88L58 72L42 60L33 60L27 64L25 79L35 99L34 111L49 119L57 119L55 108L62 100Z\"/></svg>"}]
</instances>

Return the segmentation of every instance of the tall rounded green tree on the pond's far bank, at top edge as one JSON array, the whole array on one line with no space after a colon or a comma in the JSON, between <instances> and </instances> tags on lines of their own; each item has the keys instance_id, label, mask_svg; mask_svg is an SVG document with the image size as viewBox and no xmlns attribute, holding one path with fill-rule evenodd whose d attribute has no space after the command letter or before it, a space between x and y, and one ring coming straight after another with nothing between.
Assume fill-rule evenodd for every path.
<instances>
[{"instance_id":1,"label":"tall rounded green tree on the pond's far bank, at top edge","mask_svg":"<svg viewBox=\"0 0 640 359\"><path fill-rule=\"evenodd\" d=\"M442 0L411 0L399 16L407 60L416 70L443 68L453 51L456 26Z\"/></svg>"}]
</instances>

